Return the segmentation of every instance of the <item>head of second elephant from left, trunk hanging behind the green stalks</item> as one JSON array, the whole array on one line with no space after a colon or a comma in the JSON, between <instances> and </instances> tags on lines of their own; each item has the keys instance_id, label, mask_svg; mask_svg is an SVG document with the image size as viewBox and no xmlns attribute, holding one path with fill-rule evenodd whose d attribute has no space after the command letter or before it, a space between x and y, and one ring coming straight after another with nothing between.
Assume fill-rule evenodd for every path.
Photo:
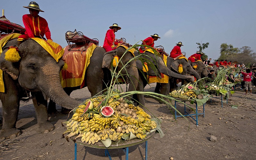
<instances>
[{"instance_id":1,"label":"head of second elephant from left, trunk hanging behind the green stalks","mask_svg":"<svg viewBox=\"0 0 256 160\"><path fill-rule=\"evenodd\" d=\"M121 74L128 80L129 83L128 91L135 91L138 86L138 69L136 67L136 62L134 55L132 52L126 52L126 49L122 46L117 47L116 50L106 52L103 56L102 68L112 69L112 61L115 56L118 57L119 62L117 67L117 71L121 71Z\"/></svg>"}]
</instances>

